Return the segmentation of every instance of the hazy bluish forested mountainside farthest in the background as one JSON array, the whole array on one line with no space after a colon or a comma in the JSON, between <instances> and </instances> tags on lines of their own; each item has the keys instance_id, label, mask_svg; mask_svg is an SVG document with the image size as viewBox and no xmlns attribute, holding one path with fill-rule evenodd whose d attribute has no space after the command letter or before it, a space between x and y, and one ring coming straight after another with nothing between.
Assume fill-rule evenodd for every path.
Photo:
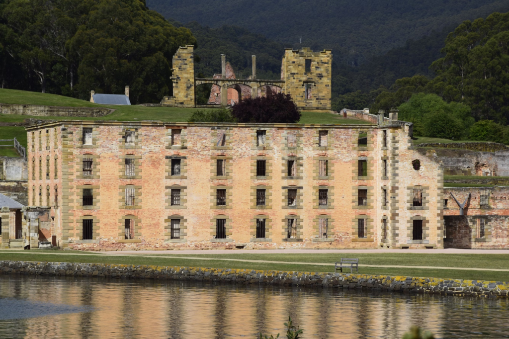
<instances>
[{"instance_id":1,"label":"hazy bluish forested mountainside farthest in the background","mask_svg":"<svg viewBox=\"0 0 509 339\"><path fill-rule=\"evenodd\" d=\"M505 0L147 0L167 19L241 26L287 47L332 48L336 60L355 65L463 20L509 10Z\"/></svg>"}]
</instances>

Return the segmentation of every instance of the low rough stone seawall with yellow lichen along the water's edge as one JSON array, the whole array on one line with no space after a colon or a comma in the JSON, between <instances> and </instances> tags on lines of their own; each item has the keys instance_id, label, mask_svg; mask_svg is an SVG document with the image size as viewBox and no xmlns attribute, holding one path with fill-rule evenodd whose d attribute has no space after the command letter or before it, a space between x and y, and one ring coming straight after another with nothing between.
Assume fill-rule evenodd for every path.
<instances>
[{"instance_id":1,"label":"low rough stone seawall with yellow lichen along the water's edge","mask_svg":"<svg viewBox=\"0 0 509 339\"><path fill-rule=\"evenodd\" d=\"M199 267L0 261L3 274L215 281L231 284L374 289L456 296L507 297L509 283L347 273L259 271Z\"/></svg>"}]
</instances>

